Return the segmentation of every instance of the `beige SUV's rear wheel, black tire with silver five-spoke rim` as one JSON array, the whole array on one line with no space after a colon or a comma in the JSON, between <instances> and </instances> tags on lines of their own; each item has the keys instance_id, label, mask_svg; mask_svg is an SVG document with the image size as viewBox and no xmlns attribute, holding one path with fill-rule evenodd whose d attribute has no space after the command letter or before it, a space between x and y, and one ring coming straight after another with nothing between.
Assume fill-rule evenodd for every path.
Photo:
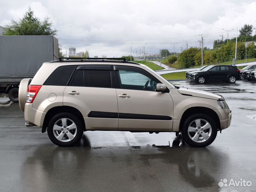
<instances>
[{"instance_id":1,"label":"beige SUV's rear wheel, black tire with silver five-spoke rim","mask_svg":"<svg viewBox=\"0 0 256 192\"><path fill-rule=\"evenodd\" d=\"M47 133L55 145L73 146L81 140L84 129L81 121L74 114L59 113L50 119Z\"/></svg>"}]
</instances>

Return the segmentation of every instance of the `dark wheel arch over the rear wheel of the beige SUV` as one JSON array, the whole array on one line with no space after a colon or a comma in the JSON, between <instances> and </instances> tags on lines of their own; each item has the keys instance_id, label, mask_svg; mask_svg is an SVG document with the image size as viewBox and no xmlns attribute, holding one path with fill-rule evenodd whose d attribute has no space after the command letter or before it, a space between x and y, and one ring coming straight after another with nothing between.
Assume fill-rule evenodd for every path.
<instances>
[{"instance_id":1,"label":"dark wheel arch over the rear wheel of the beige SUV","mask_svg":"<svg viewBox=\"0 0 256 192\"><path fill-rule=\"evenodd\" d=\"M74 114L76 117L79 118L79 120L82 123L82 126L84 127L84 131L85 131L85 121L84 121L84 117L82 116L82 113L74 108L74 107L70 107L70 106L57 106L57 107L53 107L50 110L47 111L46 116L44 117L44 122L43 122L43 127L42 127L42 133L46 132L48 123L50 121L50 119L58 113L62 113L62 112L67 112L67 113L72 113Z\"/></svg>"}]
</instances>

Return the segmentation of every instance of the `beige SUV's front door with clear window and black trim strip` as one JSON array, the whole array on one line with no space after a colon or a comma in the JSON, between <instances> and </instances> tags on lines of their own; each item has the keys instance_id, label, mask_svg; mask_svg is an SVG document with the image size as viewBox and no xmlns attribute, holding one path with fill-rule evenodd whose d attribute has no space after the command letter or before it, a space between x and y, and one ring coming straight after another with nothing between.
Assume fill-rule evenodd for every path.
<instances>
[{"instance_id":1,"label":"beige SUV's front door with clear window and black trim strip","mask_svg":"<svg viewBox=\"0 0 256 192\"><path fill-rule=\"evenodd\" d=\"M169 93L157 92L161 83L146 70L115 66L119 87L118 130L171 131L173 101Z\"/></svg>"}]
</instances>

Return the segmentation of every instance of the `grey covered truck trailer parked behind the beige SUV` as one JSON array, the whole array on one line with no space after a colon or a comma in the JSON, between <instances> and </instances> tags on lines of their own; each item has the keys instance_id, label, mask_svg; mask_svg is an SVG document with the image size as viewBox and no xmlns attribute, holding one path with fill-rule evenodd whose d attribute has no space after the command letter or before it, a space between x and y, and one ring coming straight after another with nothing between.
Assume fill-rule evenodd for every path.
<instances>
[{"instance_id":1,"label":"grey covered truck trailer parked behind the beige SUV","mask_svg":"<svg viewBox=\"0 0 256 192\"><path fill-rule=\"evenodd\" d=\"M58 57L54 36L0 36L0 93L17 102L20 81L33 78L44 62Z\"/></svg>"}]
</instances>

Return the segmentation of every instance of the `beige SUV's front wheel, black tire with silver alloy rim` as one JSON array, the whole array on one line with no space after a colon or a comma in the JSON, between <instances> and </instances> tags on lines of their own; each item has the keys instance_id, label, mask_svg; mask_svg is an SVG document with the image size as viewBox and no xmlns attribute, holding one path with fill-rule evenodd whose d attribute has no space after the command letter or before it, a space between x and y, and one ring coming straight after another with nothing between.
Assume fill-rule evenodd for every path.
<instances>
[{"instance_id":1,"label":"beige SUV's front wheel, black tire with silver alloy rim","mask_svg":"<svg viewBox=\"0 0 256 192\"><path fill-rule=\"evenodd\" d=\"M199 131L199 129L201 130ZM186 119L182 125L181 134L187 144L194 147L205 147L214 141L217 131L217 124L212 117L207 114L197 113Z\"/></svg>"}]
</instances>

